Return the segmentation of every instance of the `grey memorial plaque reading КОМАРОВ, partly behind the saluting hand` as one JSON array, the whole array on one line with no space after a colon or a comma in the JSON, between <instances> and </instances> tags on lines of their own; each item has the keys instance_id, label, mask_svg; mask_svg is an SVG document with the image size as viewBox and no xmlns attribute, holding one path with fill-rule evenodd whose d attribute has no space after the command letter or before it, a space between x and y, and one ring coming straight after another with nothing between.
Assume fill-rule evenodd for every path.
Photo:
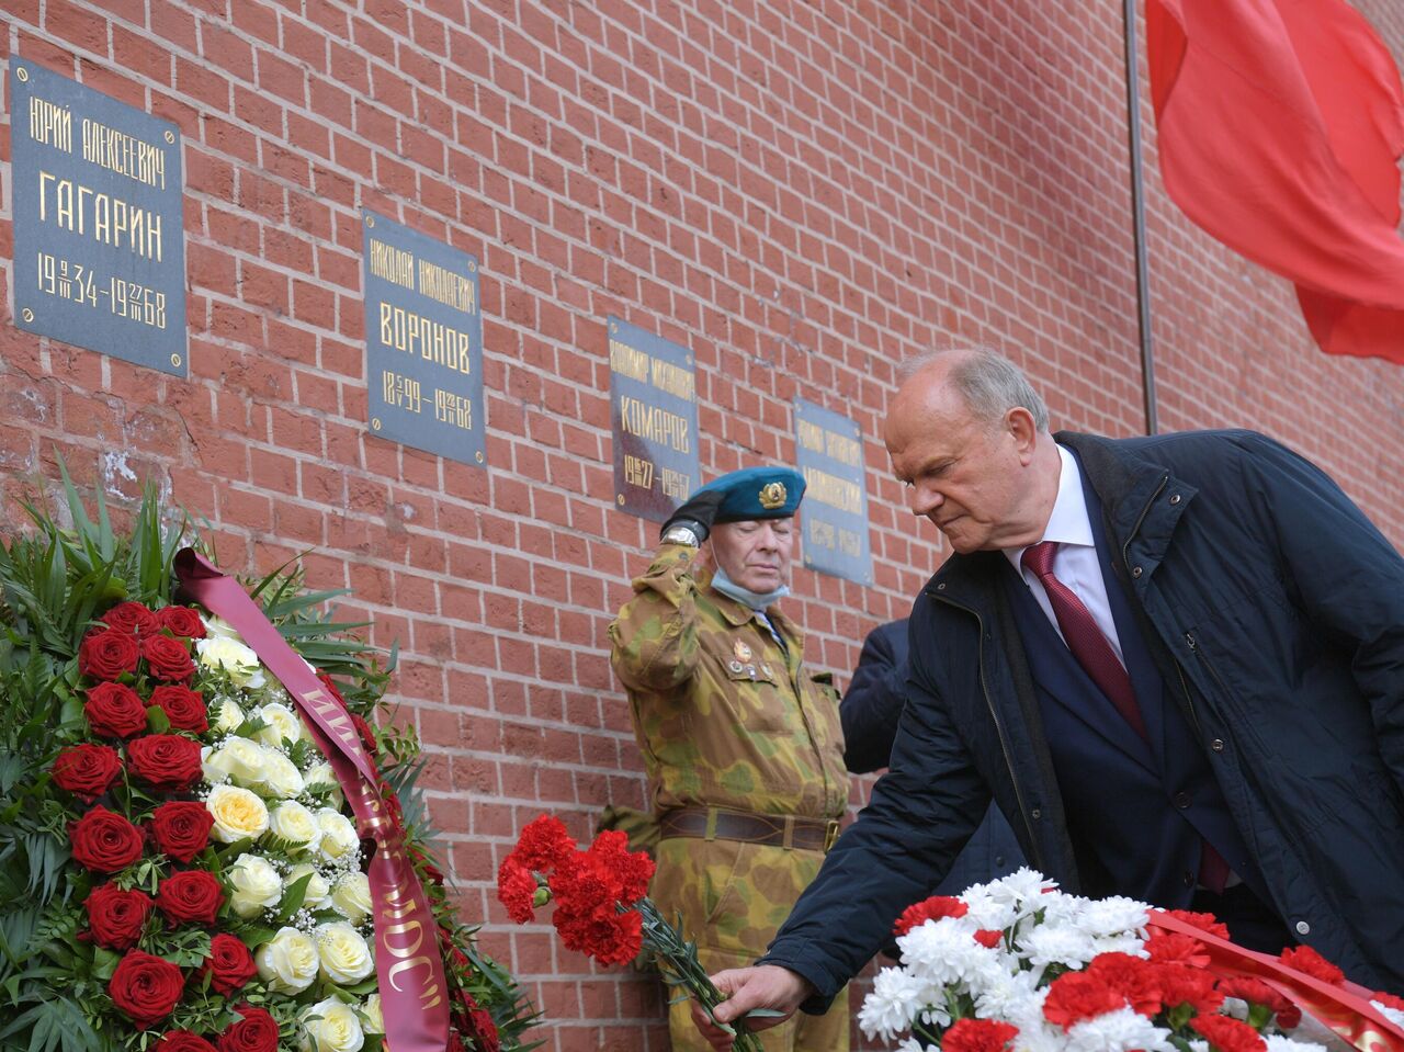
<instances>
[{"instance_id":1,"label":"grey memorial plaque reading \u041a\u041e\u041c\u0410\u0420\u041e\u0412, partly behind the saluting hand","mask_svg":"<svg viewBox=\"0 0 1404 1052\"><path fill-rule=\"evenodd\" d=\"M663 522L702 485L692 355L609 317L615 504Z\"/></svg>"}]
</instances>

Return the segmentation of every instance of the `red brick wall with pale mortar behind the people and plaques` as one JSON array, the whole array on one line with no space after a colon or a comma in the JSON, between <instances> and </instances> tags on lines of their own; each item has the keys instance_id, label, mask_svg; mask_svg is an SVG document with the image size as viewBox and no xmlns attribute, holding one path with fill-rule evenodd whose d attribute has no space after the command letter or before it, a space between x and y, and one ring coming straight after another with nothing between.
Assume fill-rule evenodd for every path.
<instances>
[{"instance_id":1,"label":"red brick wall with pale mortar behind the people and plaques","mask_svg":"<svg viewBox=\"0 0 1404 1052\"><path fill-rule=\"evenodd\" d=\"M1359 6L1404 53L1397 3ZM0 132L0 527L62 452L206 515L227 567L312 549L312 583L400 642L465 914L546 1048L665 1048L651 982L490 890L539 810L584 834L643 802L605 626L654 527L609 501L604 317L696 355L708 476L792 459L795 396L859 421L876 584L799 570L789 600L845 674L945 555L876 438L894 362L990 341L1059 426L1141 428L1120 4L1071 7L6 0L0 59L181 128L191 375L13 327ZM1163 430L1276 434L1400 539L1404 378L1316 351L1290 288L1168 204L1147 136ZM361 206L482 261L489 471L366 431Z\"/></svg>"}]
</instances>

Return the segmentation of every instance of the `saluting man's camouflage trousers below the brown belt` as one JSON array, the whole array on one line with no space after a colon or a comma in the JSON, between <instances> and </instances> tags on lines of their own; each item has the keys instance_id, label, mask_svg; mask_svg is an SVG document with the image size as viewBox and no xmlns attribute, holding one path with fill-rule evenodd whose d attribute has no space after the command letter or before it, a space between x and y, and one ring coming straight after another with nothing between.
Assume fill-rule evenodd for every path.
<instances>
[{"instance_id":1,"label":"saluting man's camouflage trousers below the brown belt","mask_svg":"<svg viewBox=\"0 0 1404 1052\"><path fill-rule=\"evenodd\" d=\"M649 895L663 916L682 917L684 938L698 944L708 975L755 962L795 900L819 874L821 851L668 837L657 847ZM673 1052L710 1052L692 1024L689 1001L668 1008ZM795 1015L764 1031L765 1052L848 1052L848 990L824 1015Z\"/></svg>"}]
</instances>

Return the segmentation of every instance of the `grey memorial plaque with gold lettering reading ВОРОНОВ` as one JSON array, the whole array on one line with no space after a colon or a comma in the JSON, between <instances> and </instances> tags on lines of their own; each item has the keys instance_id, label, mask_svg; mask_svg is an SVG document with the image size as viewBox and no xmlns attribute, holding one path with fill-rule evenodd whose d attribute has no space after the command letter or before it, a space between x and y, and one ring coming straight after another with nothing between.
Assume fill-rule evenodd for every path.
<instances>
[{"instance_id":1,"label":"grey memorial plaque with gold lettering reading \u0412\u041e\u0420\u041e\u041d\u041e\u0412","mask_svg":"<svg viewBox=\"0 0 1404 1052\"><path fill-rule=\"evenodd\" d=\"M483 465L477 260L369 209L362 219L371 431Z\"/></svg>"}]
</instances>

